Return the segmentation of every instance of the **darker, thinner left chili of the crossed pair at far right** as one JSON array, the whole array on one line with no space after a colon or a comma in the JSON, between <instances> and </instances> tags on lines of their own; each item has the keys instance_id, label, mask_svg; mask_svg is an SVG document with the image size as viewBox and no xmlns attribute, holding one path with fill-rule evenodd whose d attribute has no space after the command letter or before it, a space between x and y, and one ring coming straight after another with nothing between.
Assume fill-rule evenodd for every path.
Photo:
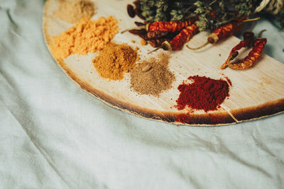
<instances>
[{"instance_id":1,"label":"darker, thinner left chili of the crossed pair at far right","mask_svg":"<svg viewBox=\"0 0 284 189\"><path fill-rule=\"evenodd\" d=\"M251 45L251 42L253 42L254 34L252 32L247 31L243 35L244 40L239 42L239 44L231 50L229 57L226 59L226 62L222 64L221 69L224 69L227 64L231 62L231 60L233 60L237 55L239 55L239 52L237 50L240 50L242 47L249 47L249 45Z\"/></svg>"}]
</instances>

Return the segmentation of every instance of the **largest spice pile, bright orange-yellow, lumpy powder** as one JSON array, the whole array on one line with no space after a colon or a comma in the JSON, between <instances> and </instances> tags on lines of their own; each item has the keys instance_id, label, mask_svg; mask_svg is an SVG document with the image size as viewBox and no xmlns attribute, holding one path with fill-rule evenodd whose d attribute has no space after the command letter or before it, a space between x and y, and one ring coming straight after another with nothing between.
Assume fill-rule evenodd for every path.
<instances>
[{"instance_id":1,"label":"largest spice pile, bright orange-yellow, lumpy powder","mask_svg":"<svg viewBox=\"0 0 284 189\"><path fill-rule=\"evenodd\" d=\"M97 21L87 18L53 37L50 50L55 59L65 59L69 55L87 55L87 52L102 50L118 32L117 21L114 17L100 17Z\"/></svg>"}]
</instances>

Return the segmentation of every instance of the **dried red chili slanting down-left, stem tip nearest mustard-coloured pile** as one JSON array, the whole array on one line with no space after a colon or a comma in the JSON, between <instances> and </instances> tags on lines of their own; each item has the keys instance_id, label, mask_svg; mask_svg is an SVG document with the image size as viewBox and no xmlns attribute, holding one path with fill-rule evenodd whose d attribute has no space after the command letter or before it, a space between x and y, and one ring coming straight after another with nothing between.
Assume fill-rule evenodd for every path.
<instances>
[{"instance_id":1,"label":"dried red chili slanting down-left, stem tip nearest mustard-coloured pile","mask_svg":"<svg viewBox=\"0 0 284 189\"><path fill-rule=\"evenodd\" d=\"M182 29L180 33L178 33L178 35L173 38L173 40L170 40L170 42L164 41L160 47L151 52L155 52L160 48L163 48L163 50L180 50L185 42L189 41L193 37L193 35L198 32L198 25L196 23L188 25L186 28ZM149 52L148 54L150 54L151 52Z\"/></svg>"}]
</instances>

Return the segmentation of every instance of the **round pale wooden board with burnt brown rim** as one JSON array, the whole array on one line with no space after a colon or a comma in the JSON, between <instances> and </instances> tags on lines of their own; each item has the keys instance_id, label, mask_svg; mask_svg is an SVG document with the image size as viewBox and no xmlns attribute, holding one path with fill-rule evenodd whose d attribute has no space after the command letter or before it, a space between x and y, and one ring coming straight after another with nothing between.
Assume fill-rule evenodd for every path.
<instances>
[{"instance_id":1,"label":"round pale wooden board with burnt brown rim","mask_svg":"<svg viewBox=\"0 0 284 189\"><path fill-rule=\"evenodd\" d=\"M58 1L60 0L45 2L43 33L48 48L53 42L53 36L60 35L72 26L53 15L53 11L58 8ZM99 16L114 16L119 21L121 30L133 27L133 22L139 20L137 17L129 18L127 15L126 5L129 4L127 0L97 0L94 4L97 6L97 13L93 16L93 20ZM207 33L195 35L190 40L190 45L201 45L206 35ZM130 33L118 33L113 40L116 43L127 43L133 48L139 47L141 59L148 59L147 52L153 50L150 45L141 46L140 38ZM136 43L132 43L131 40ZM194 75L207 76L212 79L224 79L226 76L231 80L232 86L229 98L222 103L223 108L207 113L196 110L194 113L187 114L188 121L184 125L228 125L236 123L231 115L241 122L283 112L284 65L282 63L268 55L263 55L251 69L243 71L219 69L226 56L229 55L231 47L238 42L239 39L231 37L225 42L214 46L208 45L199 51L184 48L178 52L168 52L171 56L169 68L175 74L176 80L173 87L161 93L160 97L139 95L131 90L129 73L124 74L124 79L120 81L102 79L92 64L92 59L96 54L71 55L58 64L75 83L92 96L112 107L152 120L182 124L176 122L177 115L187 114L188 110L180 111L174 108L179 96L177 88L188 76ZM162 51L158 50L150 57L156 57Z\"/></svg>"}]
</instances>

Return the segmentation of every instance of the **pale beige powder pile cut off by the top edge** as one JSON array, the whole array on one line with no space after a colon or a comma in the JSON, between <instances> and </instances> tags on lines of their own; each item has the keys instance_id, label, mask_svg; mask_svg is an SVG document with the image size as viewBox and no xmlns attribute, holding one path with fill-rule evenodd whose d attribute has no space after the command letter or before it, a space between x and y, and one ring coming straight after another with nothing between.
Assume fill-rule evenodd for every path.
<instances>
[{"instance_id":1,"label":"pale beige powder pile cut off by the top edge","mask_svg":"<svg viewBox=\"0 0 284 189\"><path fill-rule=\"evenodd\" d=\"M77 23L81 18L91 18L95 12L94 3L89 0L60 0L53 12L57 18L67 23Z\"/></svg>"}]
</instances>

